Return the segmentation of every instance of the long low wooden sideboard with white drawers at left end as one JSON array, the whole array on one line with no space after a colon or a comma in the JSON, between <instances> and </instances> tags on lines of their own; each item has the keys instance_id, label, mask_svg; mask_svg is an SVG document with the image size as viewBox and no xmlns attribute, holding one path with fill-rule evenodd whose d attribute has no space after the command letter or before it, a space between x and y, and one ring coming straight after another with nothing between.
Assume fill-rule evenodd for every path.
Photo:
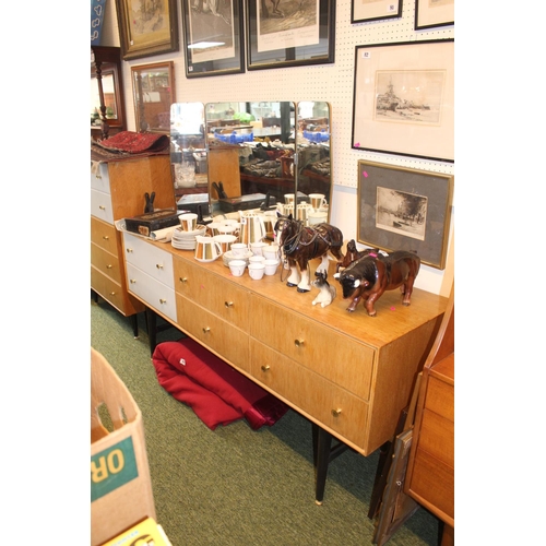
<instances>
[{"instance_id":1,"label":"long low wooden sideboard with white drawers at left end","mask_svg":"<svg viewBox=\"0 0 546 546\"><path fill-rule=\"evenodd\" d=\"M124 237L126 246L134 238ZM404 307L393 290L370 318L364 307L348 312L340 290L321 308L311 305L314 292L298 294L278 275L234 277L222 260L200 263L191 251L140 242L150 250L149 265L157 249L173 258L176 316L129 277L131 294L363 455L391 440L447 298L415 289ZM129 270L133 259L127 259Z\"/></svg>"}]
</instances>

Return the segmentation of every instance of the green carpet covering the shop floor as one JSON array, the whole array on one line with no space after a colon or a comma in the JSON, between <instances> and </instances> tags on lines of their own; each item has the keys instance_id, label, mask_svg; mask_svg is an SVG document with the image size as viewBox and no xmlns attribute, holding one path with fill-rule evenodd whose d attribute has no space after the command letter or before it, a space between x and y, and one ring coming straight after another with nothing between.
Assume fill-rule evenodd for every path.
<instances>
[{"instance_id":1,"label":"green carpet covering the shop floor","mask_svg":"<svg viewBox=\"0 0 546 546\"><path fill-rule=\"evenodd\" d=\"M258 431L245 420L211 431L158 384L143 313L139 328L135 340L129 319L92 299L91 344L142 411L157 520L174 546L371 544L377 452L332 461L317 506L310 423L289 411ZM157 341L180 337L170 329ZM419 508L388 544L437 545L438 520Z\"/></svg>"}]
</instances>

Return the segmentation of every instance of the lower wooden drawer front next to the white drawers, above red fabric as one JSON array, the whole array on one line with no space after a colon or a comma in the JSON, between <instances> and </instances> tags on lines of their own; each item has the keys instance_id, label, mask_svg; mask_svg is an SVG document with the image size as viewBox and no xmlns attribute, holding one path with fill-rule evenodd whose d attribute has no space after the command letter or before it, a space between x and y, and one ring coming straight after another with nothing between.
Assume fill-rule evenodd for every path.
<instances>
[{"instance_id":1,"label":"lower wooden drawer front next to the white drawers, above red fabric","mask_svg":"<svg viewBox=\"0 0 546 546\"><path fill-rule=\"evenodd\" d=\"M222 358L246 370L248 333L210 313L180 294L177 294L176 298L177 323L180 328Z\"/></svg>"}]
</instances>

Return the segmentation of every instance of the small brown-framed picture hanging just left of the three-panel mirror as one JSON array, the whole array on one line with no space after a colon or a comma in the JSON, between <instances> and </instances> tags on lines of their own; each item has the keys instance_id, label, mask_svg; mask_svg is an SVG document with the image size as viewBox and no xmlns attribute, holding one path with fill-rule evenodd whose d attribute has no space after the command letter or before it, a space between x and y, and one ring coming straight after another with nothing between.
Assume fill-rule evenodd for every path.
<instances>
[{"instance_id":1,"label":"small brown-framed picture hanging just left of the three-panel mirror","mask_svg":"<svg viewBox=\"0 0 546 546\"><path fill-rule=\"evenodd\" d=\"M134 120L138 131L170 133L170 105L175 102L175 63L131 67Z\"/></svg>"}]
</instances>

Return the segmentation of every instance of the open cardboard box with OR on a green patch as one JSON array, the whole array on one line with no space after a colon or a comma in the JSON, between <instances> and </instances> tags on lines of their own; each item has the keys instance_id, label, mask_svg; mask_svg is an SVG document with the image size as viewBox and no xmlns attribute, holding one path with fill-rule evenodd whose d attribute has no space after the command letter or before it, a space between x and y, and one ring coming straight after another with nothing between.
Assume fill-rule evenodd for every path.
<instances>
[{"instance_id":1,"label":"open cardboard box with OR on a green patch","mask_svg":"<svg viewBox=\"0 0 546 546\"><path fill-rule=\"evenodd\" d=\"M111 366L91 349L91 546L156 519L139 406Z\"/></svg>"}]
</instances>

